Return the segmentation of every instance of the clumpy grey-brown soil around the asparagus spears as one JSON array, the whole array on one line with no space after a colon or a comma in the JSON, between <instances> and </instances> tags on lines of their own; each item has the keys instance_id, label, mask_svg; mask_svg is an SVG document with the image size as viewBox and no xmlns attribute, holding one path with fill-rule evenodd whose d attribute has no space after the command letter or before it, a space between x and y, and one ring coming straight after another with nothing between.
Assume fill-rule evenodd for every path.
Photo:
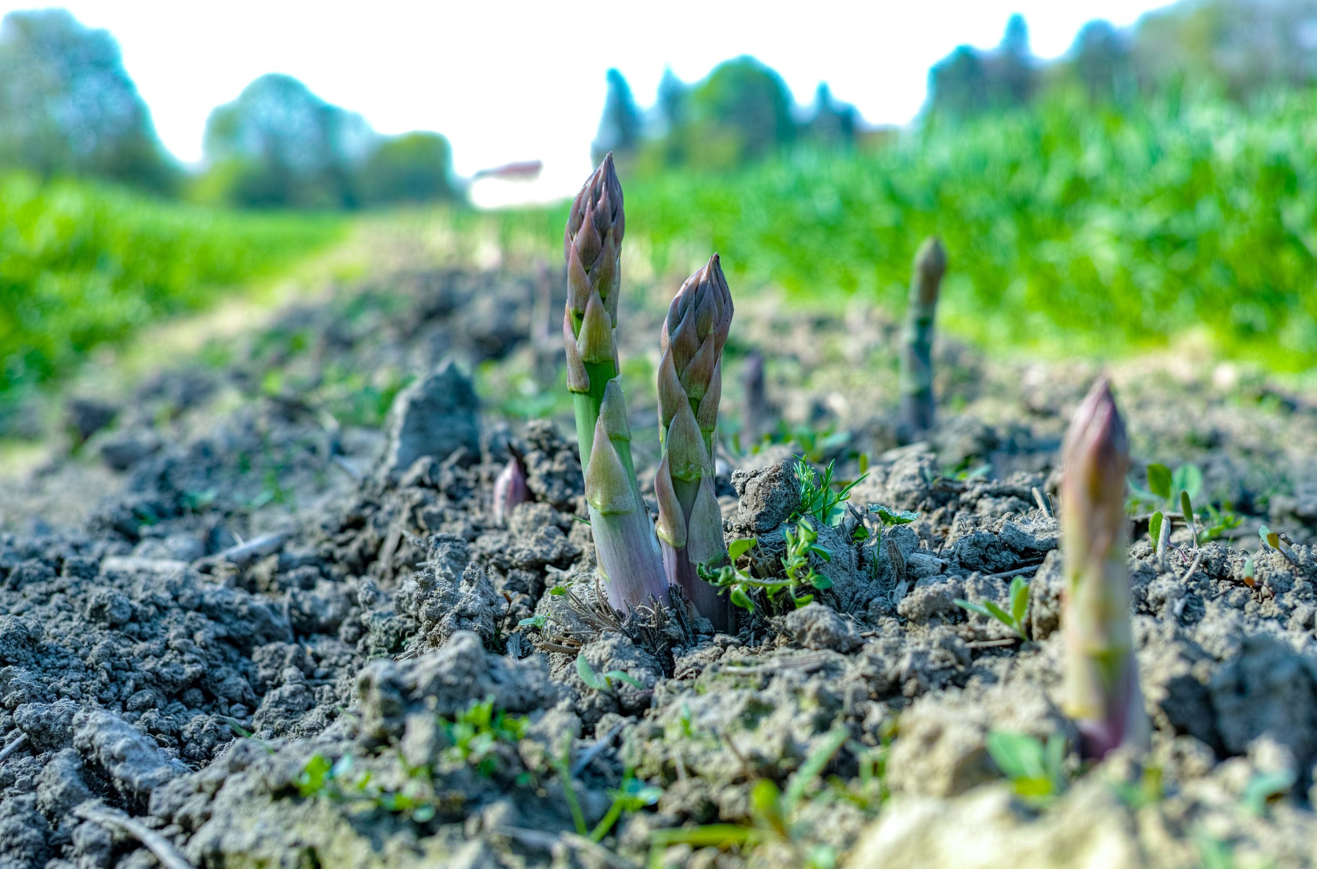
<instances>
[{"instance_id":1,"label":"clumpy grey-brown soil around the asparagus spears","mask_svg":"<svg viewBox=\"0 0 1317 869\"><path fill-rule=\"evenodd\" d=\"M1054 512L1096 365L940 341L942 421L900 444L894 324L739 300L718 492L728 541L759 541L740 565L781 573L793 453L868 475L820 528L831 587L722 635L601 604L556 283L395 265L220 356L70 388L61 446L0 498L0 866L1317 864L1312 396L1110 367L1134 478L1193 463L1241 524L1197 550L1177 528L1163 560L1135 521L1154 744L1088 766ZM665 300L623 303L640 467ZM741 450L752 350L784 423ZM514 452L531 500L500 524ZM955 603L1008 606L1017 575L1027 641ZM1064 740L1052 793L1008 781L1002 732Z\"/></svg>"}]
</instances>

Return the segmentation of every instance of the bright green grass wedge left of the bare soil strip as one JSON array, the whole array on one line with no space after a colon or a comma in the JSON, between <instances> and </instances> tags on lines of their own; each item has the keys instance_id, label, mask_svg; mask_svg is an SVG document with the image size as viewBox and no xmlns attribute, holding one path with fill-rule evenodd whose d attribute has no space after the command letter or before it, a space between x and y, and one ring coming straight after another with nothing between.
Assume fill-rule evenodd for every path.
<instances>
[{"instance_id":1,"label":"bright green grass wedge left of the bare soil strip","mask_svg":"<svg viewBox=\"0 0 1317 869\"><path fill-rule=\"evenodd\" d=\"M0 175L0 407L101 344L275 274L345 226Z\"/></svg>"}]
</instances>

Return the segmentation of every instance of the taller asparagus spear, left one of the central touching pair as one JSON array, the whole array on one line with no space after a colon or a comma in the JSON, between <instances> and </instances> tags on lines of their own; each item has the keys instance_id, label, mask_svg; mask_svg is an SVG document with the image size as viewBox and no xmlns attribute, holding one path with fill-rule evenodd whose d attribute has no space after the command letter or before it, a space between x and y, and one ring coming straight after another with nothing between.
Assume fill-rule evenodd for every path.
<instances>
[{"instance_id":1,"label":"taller asparagus spear, left one of the central touching pair","mask_svg":"<svg viewBox=\"0 0 1317 869\"><path fill-rule=\"evenodd\" d=\"M615 379L614 329L624 230L622 184L608 154L577 194L568 216L562 337L594 548L599 570L608 581L608 603L622 611L651 596L668 599L658 544L631 462L627 403Z\"/></svg>"}]
</instances>

